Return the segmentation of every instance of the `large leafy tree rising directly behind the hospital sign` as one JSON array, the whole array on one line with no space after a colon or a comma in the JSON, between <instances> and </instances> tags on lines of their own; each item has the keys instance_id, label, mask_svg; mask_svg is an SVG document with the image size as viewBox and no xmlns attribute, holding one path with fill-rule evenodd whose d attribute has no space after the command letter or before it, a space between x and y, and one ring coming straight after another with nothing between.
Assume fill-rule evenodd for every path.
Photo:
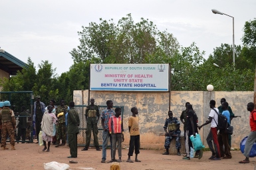
<instances>
[{"instance_id":1,"label":"large leafy tree rising directly behind the hospital sign","mask_svg":"<svg viewBox=\"0 0 256 170\"><path fill-rule=\"evenodd\" d=\"M78 35L81 36L80 45L70 52L74 62L148 63L152 58L171 58L179 48L172 34L158 31L148 19L134 23L130 14L122 17L118 24L112 19L100 19L99 24L89 23Z\"/></svg>"}]
</instances>

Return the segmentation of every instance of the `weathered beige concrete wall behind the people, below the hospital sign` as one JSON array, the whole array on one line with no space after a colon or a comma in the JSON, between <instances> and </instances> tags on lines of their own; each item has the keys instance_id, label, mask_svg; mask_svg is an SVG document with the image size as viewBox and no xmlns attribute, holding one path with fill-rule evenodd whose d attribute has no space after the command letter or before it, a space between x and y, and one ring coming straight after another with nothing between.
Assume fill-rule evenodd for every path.
<instances>
[{"instance_id":1,"label":"weathered beige concrete wall behind the people, below the hospital sign","mask_svg":"<svg viewBox=\"0 0 256 170\"><path fill-rule=\"evenodd\" d=\"M163 149L164 121L168 118L169 92L105 92L91 91L90 97L95 98L95 104L106 106L106 100L112 100L114 106L124 106L124 143L123 147L128 147L130 135L128 134L128 118L131 116L130 109L134 106L138 108L140 118L140 144L142 148ZM220 105L220 99L226 98L235 116L232 125L234 133L232 135L231 147L239 148L239 143L243 137L249 134L249 112L246 110L248 102L253 102L253 92L171 92L171 110L174 116L180 120L182 110L185 110L185 103L190 102L199 118L199 125L207 120L209 115L209 101L215 100L216 107ZM74 91L74 102L76 105L86 105L88 103L88 90ZM100 108L101 110L104 108ZM84 110L80 110L81 128L86 128L84 122ZM101 128L100 122L98 128ZM209 133L210 125L204 126L200 131L203 144L207 147L205 138ZM183 125L181 126L183 131ZM183 135L183 133L182 133ZM79 143L85 143L84 131L78 137ZM93 139L93 137L92 137ZM102 133L98 134L99 142L102 143ZM91 142L93 143L93 142Z\"/></svg>"}]
</instances>

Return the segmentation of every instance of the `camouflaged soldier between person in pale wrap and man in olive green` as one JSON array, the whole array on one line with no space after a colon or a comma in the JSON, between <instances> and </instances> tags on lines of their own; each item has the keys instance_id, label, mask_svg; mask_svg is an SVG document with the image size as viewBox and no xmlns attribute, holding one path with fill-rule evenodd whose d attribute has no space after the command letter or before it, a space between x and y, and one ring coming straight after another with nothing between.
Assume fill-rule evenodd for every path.
<instances>
[{"instance_id":1,"label":"camouflaged soldier between person in pale wrap and man in olive green","mask_svg":"<svg viewBox=\"0 0 256 170\"><path fill-rule=\"evenodd\" d=\"M68 110L68 106L64 105L65 101L61 100L61 106L57 107L57 145L55 147L59 147L60 145L66 144L66 110ZM60 144L61 141L61 144Z\"/></svg>"}]
</instances>

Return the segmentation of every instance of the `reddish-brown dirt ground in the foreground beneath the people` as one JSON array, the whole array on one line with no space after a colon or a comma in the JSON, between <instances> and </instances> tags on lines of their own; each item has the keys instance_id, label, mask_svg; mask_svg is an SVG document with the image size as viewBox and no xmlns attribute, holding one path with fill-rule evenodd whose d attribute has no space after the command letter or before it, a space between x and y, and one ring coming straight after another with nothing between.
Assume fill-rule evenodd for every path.
<instances>
[{"instance_id":1,"label":"reddish-brown dirt ground in the foreground beneath the people","mask_svg":"<svg viewBox=\"0 0 256 170\"><path fill-rule=\"evenodd\" d=\"M10 147L9 143L7 144ZM16 143L16 150L0 150L0 169L44 169L43 163L57 161L70 165L70 169L110 169L111 163L100 163L102 151L96 151L94 148L88 151L81 151L82 147L78 147L78 157L69 159L68 146L55 147L51 145L50 152L42 151L43 146L36 143ZM127 149L122 149L122 163L120 168L123 169L256 169L255 158L250 159L250 163L239 164L238 161L244 159L241 151L231 151L232 159L221 159L220 161L210 161L209 151L203 152L203 157L199 159L183 160L178 155L162 155L164 150L146 150L141 149L138 159L140 163L127 163ZM118 153L116 151L116 158ZM78 163L68 163L69 160L78 161ZM110 149L107 150L107 160L110 160ZM134 156L132 157L134 160Z\"/></svg>"}]
</instances>

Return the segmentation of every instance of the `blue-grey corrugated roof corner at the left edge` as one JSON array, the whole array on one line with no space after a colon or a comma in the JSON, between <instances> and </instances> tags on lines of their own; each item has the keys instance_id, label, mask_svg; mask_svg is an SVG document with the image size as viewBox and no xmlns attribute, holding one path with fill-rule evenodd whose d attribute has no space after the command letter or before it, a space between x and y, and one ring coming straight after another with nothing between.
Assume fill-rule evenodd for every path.
<instances>
[{"instance_id":1,"label":"blue-grey corrugated roof corner at the left edge","mask_svg":"<svg viewBox=\"0 0 256 170\"><path fill-rule=\"evenodd\" d=\"M27 68L28 65L4 50L0 50L0 69L11 75L17 74L18 70Z\"/></svg>"}]
</instances>

